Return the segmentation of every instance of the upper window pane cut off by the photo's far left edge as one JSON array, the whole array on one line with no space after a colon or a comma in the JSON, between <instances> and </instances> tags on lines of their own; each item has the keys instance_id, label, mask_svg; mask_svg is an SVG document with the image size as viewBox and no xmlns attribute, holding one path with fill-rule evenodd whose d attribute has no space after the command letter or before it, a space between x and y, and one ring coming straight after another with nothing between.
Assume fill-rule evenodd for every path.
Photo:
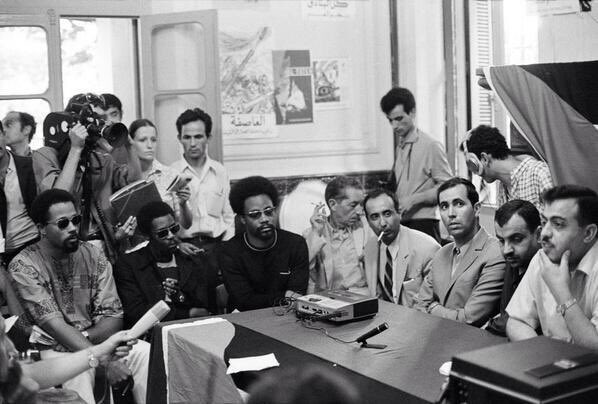
<instances>
[{"instance_id":1,"label":"upper window pane cut off by the photo's far left edge","mask_svg":"<svg viewBox=\"0 0 598 404\"><path fill-rule=\"evenodd\" d=\"M48 88L48 42L41 27L0 27L0 94L41 94Z\"/></svg>"}]
</instances>

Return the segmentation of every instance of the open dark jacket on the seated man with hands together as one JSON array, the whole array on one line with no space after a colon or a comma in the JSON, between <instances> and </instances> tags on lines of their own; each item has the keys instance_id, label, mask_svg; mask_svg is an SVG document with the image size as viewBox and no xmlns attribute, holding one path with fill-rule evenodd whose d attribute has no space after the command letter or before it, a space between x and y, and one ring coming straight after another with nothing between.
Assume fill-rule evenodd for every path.
<instances>
[{"instance_id":1,"label":"open dark jacket on the seated man with hands together","mask_svg":"<svg viewBox=\"0 0 598 404\"><path fill-rule=\"evenodd\" d=\"M163 321L189 317L192 307L207 307L207 275L203 257L174 254L179 268L179 289L185 296L184 302L173 299L170 313ZM132 327L154 304L164 299L162 275L156 260L146 246L129 254L123 254L114 266L114 278L118 295L123 304L125 327Z\"/></svg>"}]
</instances>

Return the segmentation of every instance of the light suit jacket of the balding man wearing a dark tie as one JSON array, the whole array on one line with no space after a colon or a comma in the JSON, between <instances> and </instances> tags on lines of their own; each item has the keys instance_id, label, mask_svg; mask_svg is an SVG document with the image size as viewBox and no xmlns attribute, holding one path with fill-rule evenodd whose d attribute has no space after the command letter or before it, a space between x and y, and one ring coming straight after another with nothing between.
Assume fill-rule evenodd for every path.
<instances>
[{"instance_id":1,"label":"light suit jacket of the balding man wearing a dark tie","mask_svg":"<svg viewBox=\"0 0 598 404\"><path fill-rule=\"evenodd\" d=\"M432 237L421 231L401 226L398 243L399 253L395 259L395 279L397 280L397 294L399 304L411 307L413 296L427 274L427 267L440 245ZM365 273L370 296L379 297L379 282L384 281L385 268L380 266L380 250L386 249L385 244L379 244L377 238L371 237L364 249Z\"/></svg>"}]
</instances>

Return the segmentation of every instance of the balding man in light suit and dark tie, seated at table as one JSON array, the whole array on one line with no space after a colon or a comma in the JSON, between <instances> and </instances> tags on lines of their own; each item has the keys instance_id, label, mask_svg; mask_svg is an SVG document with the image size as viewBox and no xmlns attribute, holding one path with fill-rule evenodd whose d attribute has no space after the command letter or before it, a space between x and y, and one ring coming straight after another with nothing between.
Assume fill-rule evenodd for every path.
<instances>
[{"instance_id":1,"label":"balding man in light suit and dark tie, seated at table","mask_svg":"<svg viewBox=\"0 0 598 404\"><path fill-rule=\"evenodd\" d=\"M425 269L440 248L432 237L401 226L394 193L377 189L364 200L368 223L377 237L364 248L365 272L371 296L411 307Z\"/></svg>"}]
</instances>

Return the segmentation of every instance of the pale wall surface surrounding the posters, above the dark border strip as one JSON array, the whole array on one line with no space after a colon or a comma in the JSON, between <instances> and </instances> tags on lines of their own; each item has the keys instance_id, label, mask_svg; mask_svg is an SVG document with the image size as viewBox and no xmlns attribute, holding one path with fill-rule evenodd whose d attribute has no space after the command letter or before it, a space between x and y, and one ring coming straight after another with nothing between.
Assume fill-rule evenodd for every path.
<instances>
[{"instance_id":1,"label":"pale wall surface surrounding the posters, above the dark border strip","mask_svg":"<svg viewBox=\"0 0 598 404\"><path fill-rule=\"evenodd\" d=\"M256 27L266 21L272 28L275 50L309 49L312 60L347 58L350 61L347 108L315 110L313 123L277 126L277 136L271 139L224 138L224 163L232 178L391 168L391 131L378 106L380 97L391 86L388 3L350 2L356 8L353 17L317 21L302 17L298 0L151 1L152 14L216 8L221 19L238 15L245 19L243 22L255 19ZM427 80L420 83L426 91ZM426 103L422 99L420 105L424 110ZM433 113L425 111L426 114Z\"/></svg>"}]
</instances>

